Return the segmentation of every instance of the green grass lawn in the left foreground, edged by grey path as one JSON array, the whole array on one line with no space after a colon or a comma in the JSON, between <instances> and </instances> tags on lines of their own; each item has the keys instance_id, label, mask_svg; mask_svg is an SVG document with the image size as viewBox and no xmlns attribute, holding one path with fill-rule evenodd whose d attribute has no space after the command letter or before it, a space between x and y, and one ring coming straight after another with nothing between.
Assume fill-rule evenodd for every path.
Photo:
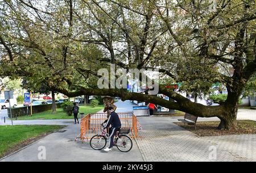
<instances>
[{"instance_id":1,"label":"green grass lawn in the left foreground, edged by grey path","mask_svg":"<svg viewBox=\"0 0 256 173\"><path fill-rule=\"evenodd\" d=\"M0 125L0 158L64 127L60 125Z\"/></svg>"}]
</instances>

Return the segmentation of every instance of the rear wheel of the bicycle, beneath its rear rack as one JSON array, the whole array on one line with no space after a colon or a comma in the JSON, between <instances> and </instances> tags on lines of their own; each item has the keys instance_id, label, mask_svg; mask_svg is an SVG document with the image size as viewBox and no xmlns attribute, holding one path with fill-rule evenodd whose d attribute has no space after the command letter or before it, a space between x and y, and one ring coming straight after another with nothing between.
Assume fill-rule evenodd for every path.
<instances>
[{"instance_id":1,"label":"rear wheel of the bicycle, beneath its rear rack","mask_svg":"<svg viewBox=\"0 0 256 173\"><path fill-rule=\"evenodd\" d=\"M124 134L117 137L115 144L117 145L118 150L122 152L128 152L133 147L133 141L131 141L131 138Z\"/></svg>"}]
</instances>

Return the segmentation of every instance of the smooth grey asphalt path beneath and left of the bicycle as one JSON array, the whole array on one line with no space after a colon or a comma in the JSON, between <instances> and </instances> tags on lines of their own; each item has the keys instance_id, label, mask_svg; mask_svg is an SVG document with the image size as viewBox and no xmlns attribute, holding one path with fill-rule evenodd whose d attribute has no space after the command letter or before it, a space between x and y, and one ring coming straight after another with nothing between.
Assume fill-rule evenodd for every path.
<instances>
[{"instance_id":1,"label":"smooth grey asphalt path beneath and left of the bicycle","mask_svg":"<svg viewBox=\"0 0 256 173\"><path fill-rule=\"evenodd\" d=\"M133 140L133 149L128 153L123 153L113 147L112 151L106 152L104 150L93 150L89 142L75 141L75 137L80 132L79 125L69 125L63 130L62 133L52 133L42 140L35 142L23 150L18 151L9 157L2 159L0 162L13 162L13 161L85 161L85 162L131 162L143 161L142 155ZM41 146L41 147L40 147ZM46 160L40 160L38 155L42 153L40 149L42 146L46 149ZM111 158L111 159L110 159Z\"/></svg>"}]
</instances>

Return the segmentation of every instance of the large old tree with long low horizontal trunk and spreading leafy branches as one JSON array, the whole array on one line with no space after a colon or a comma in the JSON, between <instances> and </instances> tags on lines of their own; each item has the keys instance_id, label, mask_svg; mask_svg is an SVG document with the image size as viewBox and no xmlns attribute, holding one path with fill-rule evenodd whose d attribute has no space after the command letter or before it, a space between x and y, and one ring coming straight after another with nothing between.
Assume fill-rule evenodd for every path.
<instances>
[{"instance_id":1,"label":"large old tree with long low horizontal trunk and spreading leafy branches","mask_svg":"<svg viewBox=\"0 0 256 173\"><path fill-rule=\"evenodd\" d=\"M253 0L0 0L2 76L47 83L68 96L110 95L140 100L236 128L238 100L256 71ZM213 8L212 8L213 7ZM97 70L158 69L159 94L97 88ZM228 88L220 106L193 103L170 88L207 94L214 82Z\"/></svg>"}]
</instances>

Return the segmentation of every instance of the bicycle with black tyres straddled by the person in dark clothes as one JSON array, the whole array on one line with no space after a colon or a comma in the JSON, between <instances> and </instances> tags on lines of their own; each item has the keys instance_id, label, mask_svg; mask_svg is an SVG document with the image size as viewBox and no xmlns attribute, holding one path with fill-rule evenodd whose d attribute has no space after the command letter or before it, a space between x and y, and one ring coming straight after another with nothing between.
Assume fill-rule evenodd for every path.
<instances>
[{"instance_id":1,"label":"bicycle with black tyres straddled by the person in dark clothes","mask_svg":"<svg viewBox=\"0 0 256 173\"><path fill-rule=\"evenodd\" d=\"M133 147L133 141L131 141L131 138L126 134L122 134L122 130L124 129L121 128L120 131L117 131L117 134L115 134L113 146L117 146L117 149L122 152L128 152ZM126 131L126 133L129 132L130 129ZM90 139L90 146L94 150L103 149L109 140L109 137L107 136L109 136L109 134L105 132L104 126L101 124L101 134L96 134Z\"/></svg>"}]
</instances>

